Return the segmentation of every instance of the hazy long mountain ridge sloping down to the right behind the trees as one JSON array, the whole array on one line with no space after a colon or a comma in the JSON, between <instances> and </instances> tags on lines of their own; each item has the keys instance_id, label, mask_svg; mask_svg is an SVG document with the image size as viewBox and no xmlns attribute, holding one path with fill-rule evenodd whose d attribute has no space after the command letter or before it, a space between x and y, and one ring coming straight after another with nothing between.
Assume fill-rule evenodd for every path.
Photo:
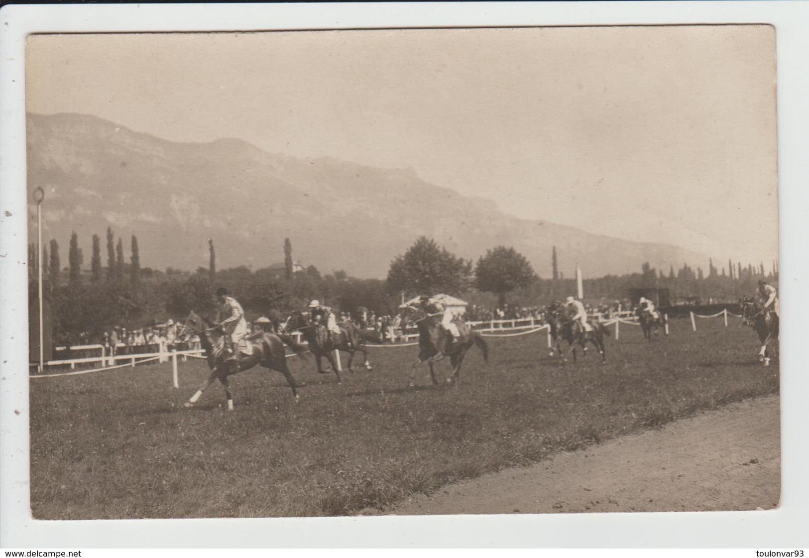
<instances>
[{"instance_id":1,"label":"hazy long mountain ridge sloping down to the right behind the trees","mask_svg":"<svg viewBox=\"0 0 809 558\"><path fill-rule=\"evenodd\" d=\"M492 201L428 184L413 171L363 167L335 159L293 159L238 139L167 142L95 116L28 115L28 187L45 189L47 238L66 260L70 231L89 267L91 235L138 235L142 266L208 265L253 269L295 260L324 273L385 277L391 260L419 235L465 258L514 246L549 277L557 247L566 277L576 262L587 277L639 271L644 261L707 264L680 247L591 235L570 226L503 213Z\"/></svg>"}]
</instances>

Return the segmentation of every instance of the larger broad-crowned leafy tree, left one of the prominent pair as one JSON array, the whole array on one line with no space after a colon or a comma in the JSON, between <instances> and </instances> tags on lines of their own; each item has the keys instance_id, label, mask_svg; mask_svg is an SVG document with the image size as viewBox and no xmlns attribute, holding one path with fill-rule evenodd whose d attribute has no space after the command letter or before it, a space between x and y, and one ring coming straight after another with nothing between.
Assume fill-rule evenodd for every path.
<instances>
[{"instance_id":1,"label":"larger broad-crowned leafy tree, left one of the prominent pair","mask_svg":"<svg viewBox=\"0 0 809 558\"><path fill-rule=\"evenodd\" d=\"M388 289L407 294L460 294L467 288L471 274L471 261L421 236L404 256L396 256L391 262Z\"/></svg>"}]
</instances>

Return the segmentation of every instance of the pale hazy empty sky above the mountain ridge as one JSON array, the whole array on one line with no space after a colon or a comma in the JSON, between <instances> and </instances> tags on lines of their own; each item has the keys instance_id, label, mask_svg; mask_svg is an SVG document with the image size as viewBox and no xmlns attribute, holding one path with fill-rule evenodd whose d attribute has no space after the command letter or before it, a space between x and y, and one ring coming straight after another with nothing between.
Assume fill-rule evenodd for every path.
<instances>
[{"instance_id":1,"label":"pale hazy empty sky above the mountain ridge","mask_svg":"<svg viewBox=\"0 0 809 558\"><path fill-rule=\"evenodd\" d=\"M29 112L412 167L523 218L776 257L772 27L33 36L27 60Z\"/></svg>"}]
</instances>

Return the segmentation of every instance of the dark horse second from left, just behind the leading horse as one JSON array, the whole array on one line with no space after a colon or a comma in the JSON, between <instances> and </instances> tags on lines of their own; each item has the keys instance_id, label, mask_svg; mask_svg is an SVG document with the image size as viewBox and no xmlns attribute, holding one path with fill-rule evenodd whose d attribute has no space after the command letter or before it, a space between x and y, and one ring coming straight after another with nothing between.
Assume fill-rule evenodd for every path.
<instances>
[{"instance_id":1,"label":"dark horse second from left, just behind the leading horse","mask_svg":"<svg viewBox=\"0 0 809 558\"><path fill-rule=\"evenodd\" d=\"M349 353L349 372L354 372L351 363L354 361L354 353L357 351L362 351L362 356L365 357L366 370L373 370L373 368L371 367L371 362L368 361L368 349L366 349L365 340L362 338L359 328L354 323L349 322L338 323L337 327L340 328L341 333L329 339L324 326L319 323L311 323L303 312L298 311L294 312L286 320L284 330L288 332L298 330L301 332L303 339L309 345L309 350L315 355L317 373L328 374L320 367L321 357L326 357L329 364L332 365L334 374L337 374L337 383L341 383L340 372L337 371L337 363L334 361L334 350Z\"/></svg>"}]
</instances>

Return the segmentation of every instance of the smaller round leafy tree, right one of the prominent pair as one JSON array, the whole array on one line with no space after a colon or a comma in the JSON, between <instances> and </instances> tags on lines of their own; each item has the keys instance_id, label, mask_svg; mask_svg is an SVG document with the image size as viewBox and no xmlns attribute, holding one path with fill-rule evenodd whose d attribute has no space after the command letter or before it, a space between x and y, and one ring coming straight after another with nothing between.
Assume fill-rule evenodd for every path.
<instances>
[{"instance_id":1,"label":"smaller round leafy tree, right one of the prominent pair","mask_svg":"<svg viewBox=\"0 0 809 558\"><path fill-rule=\"evenodd\" d=\"M488 250L475 267L475 286L497 294L501 307L506 304L506 293L525 288L536 278L531 264L513 247L498 246Z\"/></svg>"}]
</instances>

